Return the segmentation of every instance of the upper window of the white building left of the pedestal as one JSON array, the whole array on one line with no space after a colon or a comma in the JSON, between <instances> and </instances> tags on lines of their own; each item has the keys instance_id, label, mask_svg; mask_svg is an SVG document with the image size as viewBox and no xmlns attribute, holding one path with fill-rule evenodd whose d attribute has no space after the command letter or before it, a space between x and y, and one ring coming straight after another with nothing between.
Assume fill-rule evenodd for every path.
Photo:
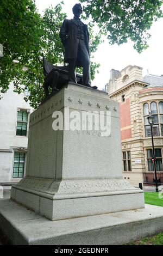
<instances>
[{"instance_id":1,"label":"upper window of the white building left of the pedestal","mask_svg":"<svg viewBox=\"0 0 163 256\"><path fill-rule=\"evenodd\" d=\"M27 124L28 124L27 111L18 111L16 135L27 136Z\"/></svg>"}]
</instances>

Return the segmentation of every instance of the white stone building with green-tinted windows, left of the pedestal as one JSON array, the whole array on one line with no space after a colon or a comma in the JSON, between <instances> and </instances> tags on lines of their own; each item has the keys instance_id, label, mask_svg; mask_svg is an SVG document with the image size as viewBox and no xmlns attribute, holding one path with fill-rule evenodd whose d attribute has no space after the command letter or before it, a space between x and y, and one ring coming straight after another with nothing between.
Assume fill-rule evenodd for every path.
<instances>
[{"instance_id":1,"label":"white stone building with green-tinted windows, left of the pedestal","mask_svg":"<svg viewBox=\"0 0 163 256\"><path fill-rule=\"evenodd\" d=\"M0 185L17 183L26 172L29 115L33 112L24 94L11 83L0 100ZM28 94L28 92L25 92Z\"/></svg>"}]
</instances>

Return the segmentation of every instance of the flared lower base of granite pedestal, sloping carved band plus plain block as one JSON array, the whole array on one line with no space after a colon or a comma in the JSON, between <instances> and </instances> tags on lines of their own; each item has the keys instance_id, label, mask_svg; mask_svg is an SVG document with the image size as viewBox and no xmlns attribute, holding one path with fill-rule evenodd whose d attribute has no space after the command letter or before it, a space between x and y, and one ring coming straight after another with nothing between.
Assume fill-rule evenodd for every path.
<instances>
[{"instance_id":1,"label":"flared lower base of granite pedestal, sloping carved band plus plain block","mask_svg":"<svg viewBox=\"0 0 163 256\"><path fill-rule=\"evenodd\" d=\"M123 179L54 181L24 178L12 186L11 199L52 221L145 206L143 191Z\"/></svg>"}]
</instances>

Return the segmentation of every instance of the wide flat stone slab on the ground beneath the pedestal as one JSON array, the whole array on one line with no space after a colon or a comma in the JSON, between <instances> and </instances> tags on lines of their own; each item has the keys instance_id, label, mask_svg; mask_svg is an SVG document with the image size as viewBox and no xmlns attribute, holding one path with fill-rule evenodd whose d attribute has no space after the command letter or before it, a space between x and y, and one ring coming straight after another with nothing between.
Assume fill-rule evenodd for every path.
<instances>
[{"instance_id":1,"label":"wide flat stone slab on the ground beneath the pedestal","mask_svg":"<svg viewBox=\"0 0 163 256\"><path fill-rule=\"evenodd\" d=\"M0 227L12 245L122 245L163 231L163 208L146 205L50 221L12 200L0 200Z\"/></svg>"}]
</instances>

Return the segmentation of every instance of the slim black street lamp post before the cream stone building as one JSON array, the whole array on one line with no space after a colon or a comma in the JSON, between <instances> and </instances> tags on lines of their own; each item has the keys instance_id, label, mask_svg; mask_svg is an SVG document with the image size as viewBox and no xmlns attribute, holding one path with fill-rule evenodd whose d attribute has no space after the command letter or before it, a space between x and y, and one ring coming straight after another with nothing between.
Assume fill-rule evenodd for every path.
<instances>
[{"instance_id":1,"label":"slim black street lamp post before the cream stone building","mask_svg":"<svg viewBox=\"0 0 163 256\"><path fill-rule=\"evenodd\" d=\"M154 142L153 142L153 115L151 115L151 112L149 112L149 115L147 117L148 123L151 126L151 137L152 137L152 162L154 167L154 173L155 173L155 192L159 192L158 190L158 178L156 174L156 161L155 161L155 151L154 151Z\"/></svg>"}]
</instances>

